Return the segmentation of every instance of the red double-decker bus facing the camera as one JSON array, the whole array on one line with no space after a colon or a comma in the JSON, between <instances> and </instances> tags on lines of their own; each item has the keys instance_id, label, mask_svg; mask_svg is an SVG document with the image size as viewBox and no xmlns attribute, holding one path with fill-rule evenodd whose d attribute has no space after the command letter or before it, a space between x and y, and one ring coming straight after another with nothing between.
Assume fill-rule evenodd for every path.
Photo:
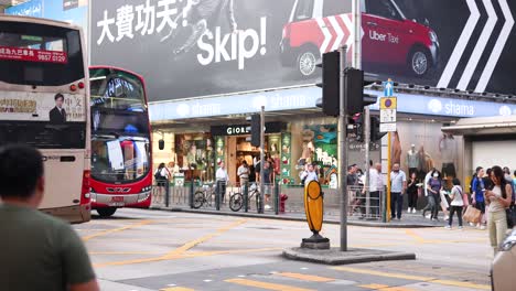
<instances>
[{"instance_id":1,"label":"red double-decker bus facing the camera","mask_svg":"<svg viewBox=\"0 0 516 291\"><path fill-rule=\"evenodd\" d=\"M151 203L151 131L144 80L127 69L89 67L92 207L110 216Z\"/></svg>"}]
</instances>

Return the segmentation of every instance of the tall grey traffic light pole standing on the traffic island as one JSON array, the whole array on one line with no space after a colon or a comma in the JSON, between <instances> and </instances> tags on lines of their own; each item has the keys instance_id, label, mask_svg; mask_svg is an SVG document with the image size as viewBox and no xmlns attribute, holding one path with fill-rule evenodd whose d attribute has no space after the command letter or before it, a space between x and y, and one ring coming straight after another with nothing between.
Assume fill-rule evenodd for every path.
<instances>
[{"instance_id":1,"label":"tall grey traffic light pole standing on the traffic island","mask_svg":"<svg viewBox=\"0 0 516 291\"><path fill-rule=\"evenodd\" d=\"M338 161L341 163L338 170L338 181L341 182L341 251L347 251L347 112L346 99L344 98L345 84L344 71L346 68L346 52L347 46L344 45L338 50L341 53L340 67L340 115L338 115Z\"/></svg>"}]
</instances>

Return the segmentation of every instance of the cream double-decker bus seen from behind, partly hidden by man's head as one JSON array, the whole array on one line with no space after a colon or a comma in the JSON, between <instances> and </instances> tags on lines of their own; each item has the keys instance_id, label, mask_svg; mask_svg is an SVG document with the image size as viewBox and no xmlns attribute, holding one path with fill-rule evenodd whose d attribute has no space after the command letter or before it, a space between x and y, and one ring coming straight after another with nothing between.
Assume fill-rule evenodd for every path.
<instances>
[{"instance_id":1,"label":"cream double-decker bus seen from behind, partly hidden by man's head","mask_svg":"<svg viewBox=\"0 0 516 291\"><path fill-rule=\"evenodd\" d=\"M46 185L41 209L71 223L90 219L86 58L80 28L0 14L0 146L41 150Z\"/></svg>"}]
</instances>

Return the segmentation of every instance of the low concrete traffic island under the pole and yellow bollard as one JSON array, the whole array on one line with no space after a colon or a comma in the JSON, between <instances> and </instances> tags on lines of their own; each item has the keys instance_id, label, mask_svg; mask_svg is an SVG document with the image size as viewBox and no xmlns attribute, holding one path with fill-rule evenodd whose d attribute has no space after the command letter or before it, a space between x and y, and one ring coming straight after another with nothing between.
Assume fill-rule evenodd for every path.
<instances>
[{"instance_id":1,"label":"low concrete traffic island under the pole and yellow bollard","mask_svg":"<svg viewBox=\"0 0 516 291\"><path fill-rule=\"evenodd\" d=\"M416 254L412 252L393 252L374 249L350 249L348 251L332 250L312 250L310 252L299 251L301 248L286 249L282 256L290 260L308 261L324 265L351 265L373 261L387 260L415 260ZM355 252L363 255L355 255Z\"/></svg>"}]
</instances>

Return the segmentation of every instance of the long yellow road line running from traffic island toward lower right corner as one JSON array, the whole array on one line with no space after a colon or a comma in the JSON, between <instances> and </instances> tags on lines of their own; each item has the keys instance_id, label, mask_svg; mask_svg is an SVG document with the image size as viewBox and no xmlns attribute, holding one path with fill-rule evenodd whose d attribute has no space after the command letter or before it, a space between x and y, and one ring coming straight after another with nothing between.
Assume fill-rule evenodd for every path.
<instances>
[{"instance_id":1,"label":"long yellow road line running from traffic island toward lower right corner","mask_svg":"<svg viewBox=\"0 0 516 291\"><path fill-rule=\"evenodd\" d=\"M443 285L465 287L465 288L479 289L479 290L491 290L491 285L486 285L486 284L476 284L476 283L452 281L452 280L440 280L438 278L432 278L432 277L410 276L410 274L405 274L405 273L391 273L391 272L374 271L374 270L350 268L350 267L331 267L331 269L337 270L337 271L344 271L344 272L352 272L352 273L364 273L364 274L372 274L372 276L386 277L386 278L432 282L432 283L438 283L438 284L443 284Z\"/></svg>"}]
</instances>

